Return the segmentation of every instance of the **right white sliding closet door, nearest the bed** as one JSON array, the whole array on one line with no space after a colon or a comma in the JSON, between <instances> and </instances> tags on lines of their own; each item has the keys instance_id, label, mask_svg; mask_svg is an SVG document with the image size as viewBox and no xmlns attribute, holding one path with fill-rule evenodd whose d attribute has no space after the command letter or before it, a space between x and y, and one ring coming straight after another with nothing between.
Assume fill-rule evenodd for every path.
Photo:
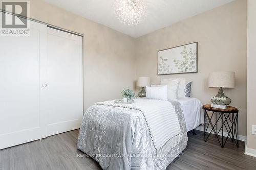
<instances>
[{"instance_id":1,"label":"right white sliding closet door, nearest the bed","mask_svg":"<svg viewBox=\"0 0 256 170\"><path fill-rule=\"evenodd\" d=\"M48 136L78 129L83 114L82 37L47 28L47 87L41 103Z\"/></svg>"}]
</instances>

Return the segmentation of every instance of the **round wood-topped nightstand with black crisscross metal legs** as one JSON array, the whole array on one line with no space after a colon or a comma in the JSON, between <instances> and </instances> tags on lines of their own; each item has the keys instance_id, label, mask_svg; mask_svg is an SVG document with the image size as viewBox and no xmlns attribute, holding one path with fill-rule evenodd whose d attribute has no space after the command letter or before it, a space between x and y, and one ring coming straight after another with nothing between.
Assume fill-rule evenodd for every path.
<instances>
[{"instance_id":1,"label":"round wood-topped nightstand with black crisscross metal legs","mask_svg":"<svg viewBox=\"0 0 256 170\"><path fill-rule=\"evenodd\" d=\"M228 137L231 138L239 147L239 134L238 134L238 109L232 106L227 106L226 109L212 108L210 105L203 105L204 110L204 141L206 141L214 132L222 148L224 148ZM211 115L208 112L212 112ZM215 117L215 121L212 117ZM205 124L208 120L208 125ZM220 122L218 124L218 122ZM217 125L221 125L218 129ZM210 127L209 127L210 126ZM211 128L211 129L210 129ZM224 131L224 128L226 132ZM207 132L208 130L208 132ZM206 132L208 135L206 136ZM224 137L223 134L226 133ZM220 134L221 138L218 136Z\"/></svg>"}]
</instances>

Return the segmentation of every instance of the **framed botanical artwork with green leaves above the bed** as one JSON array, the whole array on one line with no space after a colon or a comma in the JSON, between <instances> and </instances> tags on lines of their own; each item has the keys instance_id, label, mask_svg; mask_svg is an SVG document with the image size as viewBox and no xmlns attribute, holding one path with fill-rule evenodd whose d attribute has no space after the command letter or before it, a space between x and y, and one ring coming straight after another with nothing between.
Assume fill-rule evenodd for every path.
<instances>
[{"instance_id":1,"label":"framed botanical artwork with green leaves above the bed","mask_svg":"<svg viewBox=\"0 0 256 170\"><path fill-rule=\"evenodd\" d=\"M158 51L158 75L198 71L198 42Z\"/></svg>"}]
</instances>

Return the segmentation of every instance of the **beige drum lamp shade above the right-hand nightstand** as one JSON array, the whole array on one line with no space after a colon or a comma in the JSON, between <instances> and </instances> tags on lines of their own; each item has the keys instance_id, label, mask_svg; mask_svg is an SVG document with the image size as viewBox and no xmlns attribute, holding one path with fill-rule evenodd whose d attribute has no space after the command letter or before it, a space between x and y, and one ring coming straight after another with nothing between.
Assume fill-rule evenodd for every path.
<instances>
[{"instance_id":1,"label":"beige drum lamp shade above the right-hand nightstand","mask_svg":"<svg viewBox=\"0 0 256 170\"><path fill-rule=\"evenodd\" d=\"M216 71L209 74L209 87L234 88L233 71Z\"/></svg>"}]
</instances>

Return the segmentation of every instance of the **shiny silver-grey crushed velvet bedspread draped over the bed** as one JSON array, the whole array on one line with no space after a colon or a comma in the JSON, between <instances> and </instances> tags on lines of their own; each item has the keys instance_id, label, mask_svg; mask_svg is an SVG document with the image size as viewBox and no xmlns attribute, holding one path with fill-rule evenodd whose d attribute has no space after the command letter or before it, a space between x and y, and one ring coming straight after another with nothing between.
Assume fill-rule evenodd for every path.
<instances>
[{"instance_id":1,"label":"shiny silver-grey crushed velvet bedspread draped over the bed","mask_svg":"<svg viewBox=\"0 0 256 170\"><path fill-rule=\"evenodd\" d=\"M180 128L179 142L158 154L152 132L140 110L93 105L83 116L77 148L99 162L102 169L165 169L187 145L181 104L170 101Z\"/></svg>"}]
</instances>

